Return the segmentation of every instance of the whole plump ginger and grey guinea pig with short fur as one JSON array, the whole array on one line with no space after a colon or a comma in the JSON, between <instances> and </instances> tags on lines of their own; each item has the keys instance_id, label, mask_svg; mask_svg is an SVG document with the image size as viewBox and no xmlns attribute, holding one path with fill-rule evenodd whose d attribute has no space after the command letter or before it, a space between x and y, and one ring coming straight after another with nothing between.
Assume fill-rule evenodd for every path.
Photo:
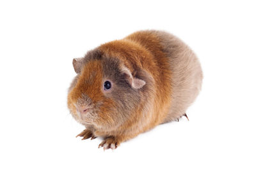
<instances>
[{"instance_id":1,"label":"whole plump ginger and grey guinea pig with short fur","mask_svg":"<svg viewBox=\"0 0 256 170\"><path fill-rule=\"evenodd\" d=\"M77 136L102 137L104 150L186 115L203 78L195 53L164 31L104 43L73 59L73 66L67 105L86 127Z\"/></svg>"}]
</instances>

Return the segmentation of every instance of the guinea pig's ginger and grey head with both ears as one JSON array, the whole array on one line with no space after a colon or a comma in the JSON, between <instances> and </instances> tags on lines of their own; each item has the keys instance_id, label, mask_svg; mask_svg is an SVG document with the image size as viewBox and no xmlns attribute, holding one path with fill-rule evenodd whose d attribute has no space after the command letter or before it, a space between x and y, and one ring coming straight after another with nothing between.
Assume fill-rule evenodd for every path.
<instances>
[{"instance_id":1,"label":"guinea pig's ginger and grey head with both ears","mask_svg":"<svg viewBox=\"0 0 256 170\"><path fill-rule=\"evenodd\" d=\"M77 122L109 130L127 122L146 82L120 59L104 57L99 50L74 59L73 66L77 76L68 90L68 108Z\"/></svg>"}]
</instances>

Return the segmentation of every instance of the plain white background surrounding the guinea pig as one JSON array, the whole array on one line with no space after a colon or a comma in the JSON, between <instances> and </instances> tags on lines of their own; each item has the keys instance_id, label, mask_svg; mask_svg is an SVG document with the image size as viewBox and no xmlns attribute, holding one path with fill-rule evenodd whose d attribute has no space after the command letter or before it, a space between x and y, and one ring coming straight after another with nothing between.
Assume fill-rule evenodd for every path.
<instances>
[{"instance_id":1,"label":"plain white background surrounding the guinea pig","mask_svg":"<svg viewBox=\"0 0 256 170\"><path fill-rule=\"evenodd\" d=\"M253 1L1 1L0 169L256 169ZM190 121L114 151L67 109L74 57L141 29L171 32L204 71Z\"/></svg>"}]
</instances>

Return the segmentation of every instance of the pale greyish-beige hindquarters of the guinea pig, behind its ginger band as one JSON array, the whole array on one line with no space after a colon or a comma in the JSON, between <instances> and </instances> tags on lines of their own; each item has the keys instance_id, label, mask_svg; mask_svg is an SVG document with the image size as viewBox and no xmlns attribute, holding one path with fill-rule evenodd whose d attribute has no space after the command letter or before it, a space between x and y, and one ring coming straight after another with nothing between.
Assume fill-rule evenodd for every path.
<instances>
[{"instance_id":1,"label":"pale greyish-beige hindquarters of the guinea pig, behind its ginger band","mask_svg":"<svg viewBox=\"0 0 256 170\"><path fill-rule=\"evenodd\" d=\"M164 31L154 32L160 39L163 52L170 59L172 101L164 120L170 122L184 115L198 96L202 87L202 68L195 53L179 38Z\"/></svg>"}]
</instances>

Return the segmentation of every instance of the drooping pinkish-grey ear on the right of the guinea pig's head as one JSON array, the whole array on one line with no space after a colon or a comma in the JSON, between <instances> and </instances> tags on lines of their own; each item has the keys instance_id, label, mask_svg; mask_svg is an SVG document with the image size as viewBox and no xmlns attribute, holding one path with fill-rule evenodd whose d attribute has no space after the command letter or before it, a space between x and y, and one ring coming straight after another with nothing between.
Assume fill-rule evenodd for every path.
<instances>
[{"instance_id":1,"label":"drooping pinkish-grey ear on the right of the guinea pig's head","mask_svg":"<svg viewBox=\"0 0 256 170\"><path fill-rule=\"evenodd\" d=\"M144 80L141 80L140 78L136 78L132 76L131 71L125 66L122 66L122 73L125 74L125 78L127 78L129 84L134 89L140 89L146 84Z\"/></svg>"}]
</instances>

